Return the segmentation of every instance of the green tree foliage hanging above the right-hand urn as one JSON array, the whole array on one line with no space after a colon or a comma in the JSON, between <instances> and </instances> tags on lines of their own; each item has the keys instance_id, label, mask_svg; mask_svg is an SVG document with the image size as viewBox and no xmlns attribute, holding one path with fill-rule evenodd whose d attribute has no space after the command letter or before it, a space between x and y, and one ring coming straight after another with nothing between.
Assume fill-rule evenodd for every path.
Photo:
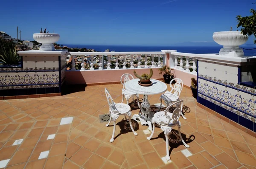
<instances>
[{"instance_id":1,"label":"green tree foliage hanging above the right-hand urn","mask_svg":"<svg viewBox=\"0 0 256 169\"><path fill-rule=\"evenodd\" d=\"M236 26L237 28L240 26L242 27L242 34L248 34L249 36L253 35L256 37L256 11L251 9L250 13L252 13L252 15L247 17L241 17L241 15L236 16L236 20L238 22ZM254 44L256 44L256 40L254 40Z\"/></svg>"}]
</instances>

